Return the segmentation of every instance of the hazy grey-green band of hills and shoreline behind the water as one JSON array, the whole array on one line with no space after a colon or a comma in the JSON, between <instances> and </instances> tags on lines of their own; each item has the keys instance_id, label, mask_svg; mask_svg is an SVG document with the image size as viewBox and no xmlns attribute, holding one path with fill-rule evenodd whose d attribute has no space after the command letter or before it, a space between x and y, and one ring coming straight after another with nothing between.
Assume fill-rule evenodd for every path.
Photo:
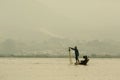
<instances>
[{"instance_id":1,"label":"hazy grey-green band of hills and shoreline behind the water","mask_svg":"<svg viewBox=\"0 0 120 80\"><path fill-rule=\"evenodd\" d=\"M83 55L93 58L120 57L119 42L99 40L72 42L59 39L28 43L6 39L0 42L0 57L68 57L67 49L74 44L77 44L80 50L80 57Z\"/></svg>"}]
</instances>

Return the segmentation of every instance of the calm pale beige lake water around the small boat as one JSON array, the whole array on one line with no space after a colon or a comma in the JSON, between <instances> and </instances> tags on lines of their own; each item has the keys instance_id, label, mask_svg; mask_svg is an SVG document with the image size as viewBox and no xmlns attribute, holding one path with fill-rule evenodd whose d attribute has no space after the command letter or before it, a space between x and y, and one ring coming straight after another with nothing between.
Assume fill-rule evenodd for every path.
<instances>
[{"instance_id":1,"label":"calm pale beige lake water around the small boat","mask_svg":"<svg viewBox=\"0 0 120 80\"><path fill-rule=\"evenodd\" d=\"M0 80L120 80L120 59L90 59L83 66L68 58L0 58Z\"/></svg>"}]
</instances>

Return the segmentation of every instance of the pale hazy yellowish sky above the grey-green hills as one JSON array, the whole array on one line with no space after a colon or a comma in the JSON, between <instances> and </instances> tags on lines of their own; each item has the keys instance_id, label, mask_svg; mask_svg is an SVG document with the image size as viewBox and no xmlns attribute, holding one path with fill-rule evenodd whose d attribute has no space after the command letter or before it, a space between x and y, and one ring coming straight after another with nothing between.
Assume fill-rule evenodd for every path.
<instances>
[{"instance_id":1,"label":"pale hazy yellowish sky above the grey-green hills","mask_svg":"<svg viewBox=\"0 0 120 80\"><path fill-rule=\"evenodd\" d=\"M119 0L0 0L0 37L120 41L119 31Z\"/></svg>"}]
</instances>

